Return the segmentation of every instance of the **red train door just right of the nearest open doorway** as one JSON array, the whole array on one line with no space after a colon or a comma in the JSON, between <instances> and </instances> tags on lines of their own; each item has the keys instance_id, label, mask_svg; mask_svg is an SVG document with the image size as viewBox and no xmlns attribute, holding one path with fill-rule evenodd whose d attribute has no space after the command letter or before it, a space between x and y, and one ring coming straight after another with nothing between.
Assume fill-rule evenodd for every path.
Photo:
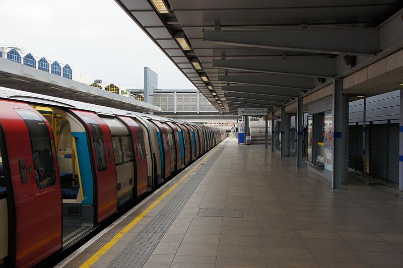
<instances>
[{"instance_id":1,"label":"red train door just right of the nearest open doorway","mask_svg":"<svg viewBox=\"0 0 403 268\"><path fill-rule=\"evenodd\" d=\"M95 113L71 110L83 120L91 139L91 152L96 176L97 222L101 222L117 210L117 178L108 125Z\"/></svg>"}]
</instances>

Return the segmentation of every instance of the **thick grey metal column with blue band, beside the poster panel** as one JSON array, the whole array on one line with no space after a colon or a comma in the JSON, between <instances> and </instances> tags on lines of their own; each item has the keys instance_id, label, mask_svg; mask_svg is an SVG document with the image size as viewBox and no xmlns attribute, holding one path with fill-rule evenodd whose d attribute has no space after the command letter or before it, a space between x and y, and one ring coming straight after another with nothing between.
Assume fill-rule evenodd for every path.
<instances>
[{"instance_id":1,"label":"thick grey metal column with blue band, beside the poster panel","mask_svg":"<svg viewBox=\"0 0 403 268\"><path fill-rule=\"evenodd\" d=\"M331 188L340 189L345 178L346 133L343 133L346 120L346 97L343 97L343 80L333 80L333 152Z\"/></svg>"}]
</instances>

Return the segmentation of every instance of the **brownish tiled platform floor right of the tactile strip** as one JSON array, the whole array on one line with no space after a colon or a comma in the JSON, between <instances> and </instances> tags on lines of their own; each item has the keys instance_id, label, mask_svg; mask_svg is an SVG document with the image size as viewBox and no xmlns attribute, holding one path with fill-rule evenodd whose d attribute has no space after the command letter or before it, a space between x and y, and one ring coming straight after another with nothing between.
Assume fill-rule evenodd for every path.
<instances>
[{"instance_id":1,"label":"brownish tiled platform floor right of the tactile strip","mask_svg":"<svg viewBox=\"0 0 403 268\"><path fill-rule=\"evenodd\" d=\"M199 208L243 210L244 218L199 217ZM153 215L94 266L107 266ZM331 190L295 168L295 158L231 139L145 266L385 267L403 266L402 252L403 199L395 191L354 180Z\"/></svg>"}]
</instances>

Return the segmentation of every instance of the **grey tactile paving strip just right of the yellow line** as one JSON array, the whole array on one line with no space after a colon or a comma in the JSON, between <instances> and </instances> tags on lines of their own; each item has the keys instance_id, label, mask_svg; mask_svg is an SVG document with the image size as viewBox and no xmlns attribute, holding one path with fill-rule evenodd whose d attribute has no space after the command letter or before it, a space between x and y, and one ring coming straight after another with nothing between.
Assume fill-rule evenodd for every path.
<instances>
[{"instance_id":1,"label":"grey tactile paving strip just right of the yellow line","mask_svg":"<svg viewBox=\"0 0 403 268\"><path fill-rule=\"evenodd\" d=\"M173 221L186 205L201 180L218 159L224 146L186 182L186 184L167 202L160 212L144 226L122 251L110 262L108 267L142 267L168 231Z\"/></svg>"}]
</instances>

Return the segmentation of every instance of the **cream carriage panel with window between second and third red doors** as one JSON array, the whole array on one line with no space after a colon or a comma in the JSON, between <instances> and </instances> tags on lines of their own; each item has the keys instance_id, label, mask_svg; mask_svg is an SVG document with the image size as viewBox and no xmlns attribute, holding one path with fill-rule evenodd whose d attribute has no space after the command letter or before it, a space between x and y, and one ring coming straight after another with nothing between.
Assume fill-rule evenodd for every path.
<instances>
[{"instance_id":1,"label":"cream carriage panel with window between second and third red doors","mask_svg":"<svg viewBox=\"0 0 403 268\"><path fill-rule=\"evenodd\" d=\"M120 210L137 196L133 142L129 130L117 118L102 117L112 135L117 177L117 209ZM137 136L137 135L136 135Z\"/></svg>"}]
</instances>

